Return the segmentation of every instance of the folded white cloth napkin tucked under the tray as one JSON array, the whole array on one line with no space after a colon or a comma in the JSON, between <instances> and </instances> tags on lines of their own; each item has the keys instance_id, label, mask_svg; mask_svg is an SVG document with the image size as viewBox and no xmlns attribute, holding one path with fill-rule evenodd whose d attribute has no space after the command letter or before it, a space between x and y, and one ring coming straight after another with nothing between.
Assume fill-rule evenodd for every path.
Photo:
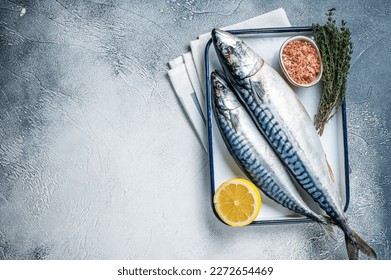
<instances>
[{"instance_id":1,"label":"folded white cloth napkin tucked under the tray","mask_svg":"<svg viewBox=\"0 0 391 280\"><path fill-rule=\"evenodd\" d=\"M291 26L285 10L280 8L246 21L224 27L223 29L247 29ZM206 102L205 102L205 46L210 33L198 36L190 42L191 52L185 53L169 62L168 75L178 99L200 140L207 150ZM267 58L265 58L267 60Z\"/></svg>"}]
</instances>

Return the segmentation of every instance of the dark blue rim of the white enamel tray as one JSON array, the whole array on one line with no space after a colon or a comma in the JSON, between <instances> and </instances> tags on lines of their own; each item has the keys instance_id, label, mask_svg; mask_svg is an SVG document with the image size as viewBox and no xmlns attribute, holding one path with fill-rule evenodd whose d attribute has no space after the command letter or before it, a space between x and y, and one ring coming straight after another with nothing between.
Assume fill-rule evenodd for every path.
<instances>
[{"instance_id":1,"label":"dark blue rim of the white enamel tray","mask_svg":"<svg viewBox=\"0 0 391 280\"><path fill-rule=\"evenodd\" d=\"M257 35L257 34L288 34L288 33L310 33L312 32L311 26L303 27L281 27L281 28L255 28L255 29L237 29L227 30L234 35ZM212 108L211 108L211 84L209 76L209 49L212 44L212 39L208 41L205 46L205 81L206 81L206 110L207 110L207 130L208 130L208 153L209 153L209 173L210 173L210 185L211 185L211 206L215 216L221 221L217 215L213 205L213 195L215 193L215 178L214 178L214 161L213 161L213 137L212 137ZM349 181L349 155L348 155L348 132L346 121L346 104L345 100L342 102L342 130L343 130L343 145L344 145L344 165L345 165L345 191L346 201L344 212L348 210L350 202L350 181ZM251 225L266 225L266 224L291 224L291 223L303 223L313 222L309 218L292 218L284 220L262 220L254 221Z\"/></svg>"}]
</instances>

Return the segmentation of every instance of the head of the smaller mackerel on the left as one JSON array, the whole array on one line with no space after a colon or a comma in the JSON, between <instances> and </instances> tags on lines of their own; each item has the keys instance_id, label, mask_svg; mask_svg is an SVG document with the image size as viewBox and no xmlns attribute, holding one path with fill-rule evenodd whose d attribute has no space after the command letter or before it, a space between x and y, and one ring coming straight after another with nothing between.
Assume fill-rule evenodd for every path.
<instances>
[{"instance_id":1,"label":"head of the smaller mackerel on the left","mask_svg":"<svg viewBox=\"0 0 391 280\"><path fill-rule=\"evenodd\" d=\"M223 74L214 71L211 74L214 106L220 112L231 111L241 106L241 103L233 92Z\"/></svg>"}]
</instances>

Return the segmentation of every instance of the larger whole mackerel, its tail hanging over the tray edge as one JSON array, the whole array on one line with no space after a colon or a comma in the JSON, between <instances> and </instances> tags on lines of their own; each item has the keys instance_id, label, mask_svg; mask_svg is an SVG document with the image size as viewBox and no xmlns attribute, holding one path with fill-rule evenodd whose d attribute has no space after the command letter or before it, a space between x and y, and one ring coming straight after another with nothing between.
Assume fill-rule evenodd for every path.
<instances>
[{"instance_id":1,"label":"larger whole mackerel, its tail hanging over the tray edge","mask_svg":"<svg viewBox=\"0 0 391 280\"><path fill-rule=\"evenodd\" d=\"M347 224L320 138L304 106L285 80L242 40L214 29L224 72L259 131L297 183L345 233L349 258L375 252Z\"/></svg>"}]
</instances>

